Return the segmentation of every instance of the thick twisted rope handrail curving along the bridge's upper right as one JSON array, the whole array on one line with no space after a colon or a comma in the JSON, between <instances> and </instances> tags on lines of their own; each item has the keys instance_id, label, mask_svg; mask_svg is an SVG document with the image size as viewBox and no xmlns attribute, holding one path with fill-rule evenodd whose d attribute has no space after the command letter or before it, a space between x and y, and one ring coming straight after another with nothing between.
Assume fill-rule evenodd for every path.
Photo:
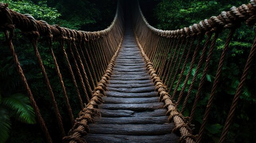
<instances>
[{"instance_id":1,"label":"thick twisted rope handrail curving along the bridge's upper right","mask_svg":"<svg viewBox=\"0 0 256 143\"><path fill-rule=\"evenodd\" d=\"M137 1L137 4L139 5L139 1ZM176 30L162 30L151 26L144 17L141 8L138 7L141 19L143 19L148 29L161 37L204 35L207 32L215 32L218 29L231 29L236 27L236 24L244 21L246 21L247 25L252 26L256 20L255 8L256 0L250 0L250 3L247 5L242 4L238 8L233 6L229 12L221 12L218 16L212 16L210 19L205 19L189 27Z\"/></svg>"}]
</instances>

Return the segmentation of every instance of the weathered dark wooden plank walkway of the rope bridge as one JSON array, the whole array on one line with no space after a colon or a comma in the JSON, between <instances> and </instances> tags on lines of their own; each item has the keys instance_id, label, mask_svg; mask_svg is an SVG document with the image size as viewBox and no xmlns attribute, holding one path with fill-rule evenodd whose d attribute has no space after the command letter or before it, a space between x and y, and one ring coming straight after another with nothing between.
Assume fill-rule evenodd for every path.
<instances>
[{"instance_id":1,"label":"weathered dark wooden plank walkway of the rope bridge","mask_svg":"<svg viewBox=\"0 0 256 143\"><path fill-rule=\"evenodd\" d=\"M88 143L167 142L176 143L174 124L168 124L164 103L159 97L137 47L131 27L127 27L122 49L107 85L102 117L89 124Z\"/></svg>"}]
</instances>

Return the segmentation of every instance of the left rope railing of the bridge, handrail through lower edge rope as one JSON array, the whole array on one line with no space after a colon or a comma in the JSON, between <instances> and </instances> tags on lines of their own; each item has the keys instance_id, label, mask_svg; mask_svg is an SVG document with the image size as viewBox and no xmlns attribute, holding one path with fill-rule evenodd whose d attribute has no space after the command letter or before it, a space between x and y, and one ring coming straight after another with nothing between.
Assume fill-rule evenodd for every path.
<instances>
[{"instance_id":1,"label":"left rope railing of the bridge, handrail through lower edge rope","mask_svg":"<svg viewBox=\"0 0 256 143\"><path fill-rule=\"evenodd\" d=\"M35 110L37 121L47 138L48 143L52 143L53 141L47 129L47 123L45 123L39 112L39 108L27 83L27 79L25 78L20 61L14 49L15 47L12 43L15 29L20 29L21 33L23 33L25 37L28 37L33 46L35 56L37 57L38 64L41 68L52 100L52 106L59 125L61 137L65 137L66 140L70 140L71 142L82 141L82 137L86 134L86 124L92 122L91 116L97 114L94 107L96 107L96 103L101 100L100 95L102 95L102 90L106 86L107 78L109 77L111 68L113 68L111 67L111 64L109 66L109 63L113 64L113 56L117 54L122 41L124 19L123 10L121 9L120 4L117 4L116 14L111 25L107 29L96 32L77 31L60 27L59 25L49 25L45 21L35 20L29 14L20 14L10 10L8 4L3 3L0 3L0 19L0 30L3 31L6 36L6 41L14 58L18 75L21 77L21 81ZM49 51L59 77L70 122L73 126L68 134L70 136L67 137L47 72L37 48L39 38L43 42L46 41L49 45ZM56 51L52 48L53 41L59 42L59 46L63 52L63 59L59 59L59 61L57 61L55 57ZM74 119L68 100L68 96L71 95L67 95L66 90L68 89L65 88L65 83L63 82L63 77L61 75L62 69L59 69L58 62L63 62L61 60L64 60L67 64L67 71L70 73L70 77L76 90L76 95L74 96L77 96L76 98L78 99L79 106L82 110L76 120ZM85 109L84 104L87 104L86 108L89 109Z\"/></svg>"}]
</instances>

